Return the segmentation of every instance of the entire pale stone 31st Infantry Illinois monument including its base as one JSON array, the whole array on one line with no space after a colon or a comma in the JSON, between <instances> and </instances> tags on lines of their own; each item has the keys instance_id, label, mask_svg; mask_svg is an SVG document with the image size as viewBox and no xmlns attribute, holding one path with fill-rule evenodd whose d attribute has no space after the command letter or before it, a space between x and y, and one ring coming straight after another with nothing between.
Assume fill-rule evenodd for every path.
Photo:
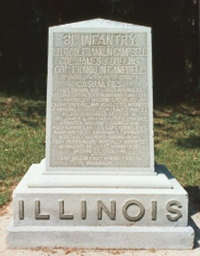
<instances>
[{"instance_id":1,"label":"entire pale stone 31st Infantry Illinois monument including its base","mask_svg":"<svg viewBox=\"0 0 200 256\"><path fill-rule=\"evenodd\" d=\"M10 248L192 248L187 193L154 165L151 30L49 28L46 152L13 192Z\"/></svg>"}]
</instances>

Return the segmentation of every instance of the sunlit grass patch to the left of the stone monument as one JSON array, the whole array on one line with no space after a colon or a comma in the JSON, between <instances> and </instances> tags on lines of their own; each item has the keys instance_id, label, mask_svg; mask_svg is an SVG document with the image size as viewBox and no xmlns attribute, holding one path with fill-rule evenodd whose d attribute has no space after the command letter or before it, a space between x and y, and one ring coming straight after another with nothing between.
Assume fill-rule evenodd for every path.
<instances>
[{"instance_id":1,"label":"sunlit grass patch to the left of the stone monument","mask_svg":"<svg viewBox=\"0 0 200 256\"><path fill-rule=\"evenodd\" d=\"M45 147L45 101L0 96L0 205Z\"/></svg>"}]
</instances>

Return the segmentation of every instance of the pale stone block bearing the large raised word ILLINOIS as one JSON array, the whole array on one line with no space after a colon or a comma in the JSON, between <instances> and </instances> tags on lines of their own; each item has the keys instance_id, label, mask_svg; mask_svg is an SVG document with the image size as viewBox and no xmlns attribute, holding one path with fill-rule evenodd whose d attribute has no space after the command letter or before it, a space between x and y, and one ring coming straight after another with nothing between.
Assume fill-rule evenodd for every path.
<instances>
[{"instance_id":1,"label":"pale stone block bearing the large raised word ILLINOIS","mask_svg":"<svg viewBox=\"0 0 200 256\"><path fill-rule=\"evenodd\" d=\"M187 194L173 177L171 189L27 187L39 172L33 164L14 191L14 226L187 225Z\"/></svg>"}]
</instances>

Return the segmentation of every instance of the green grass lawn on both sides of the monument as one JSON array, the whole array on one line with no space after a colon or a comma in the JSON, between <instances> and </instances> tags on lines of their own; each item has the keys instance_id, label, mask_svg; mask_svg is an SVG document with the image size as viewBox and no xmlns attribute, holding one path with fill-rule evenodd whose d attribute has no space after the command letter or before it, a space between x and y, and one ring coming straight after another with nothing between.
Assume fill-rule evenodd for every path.
<instances>
[{"instance_id":1,"label":"green grass lawn on both sides of the monument","mask_svg":"<svg viewBox=\"0 0 200 256\"><path fill-rule=\"evenodd\" d=\"M155 161L183 186L200 184L200 109L188 104L154 109ZM44 157L45 101L0 96L0 205L32 163Z\"/></svg>"}]
</instances>

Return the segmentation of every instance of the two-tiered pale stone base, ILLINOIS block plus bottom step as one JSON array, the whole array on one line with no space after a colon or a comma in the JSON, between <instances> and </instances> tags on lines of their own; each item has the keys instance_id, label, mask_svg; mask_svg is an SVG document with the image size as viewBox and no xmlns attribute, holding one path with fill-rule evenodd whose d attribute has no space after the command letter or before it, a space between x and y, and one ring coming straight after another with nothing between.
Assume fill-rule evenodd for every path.
<instances>
[{"instance_id":1,"label":"two-tiered pale stone base, ILLINOIS block plus bottom step","mask_svg":"<svg viewBox=\"0 0 200 256\"><path fill-rule=\"evenodd\" d=\"M13 192L9 248L193 247L187 193L164 165L170 188L29 187L32 166Z\"/></svg>"}]
</instances>

